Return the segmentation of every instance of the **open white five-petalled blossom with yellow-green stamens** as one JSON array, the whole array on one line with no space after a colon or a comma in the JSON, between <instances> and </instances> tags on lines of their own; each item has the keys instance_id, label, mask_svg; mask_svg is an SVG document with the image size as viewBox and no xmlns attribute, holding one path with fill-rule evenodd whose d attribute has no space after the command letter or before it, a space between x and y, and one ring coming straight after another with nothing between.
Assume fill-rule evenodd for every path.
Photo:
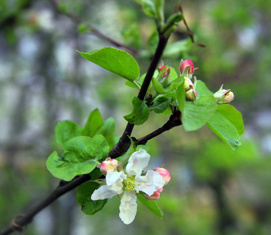
<instances>
[{"instance_id":1,"label":"open white five-petalled blossom with yellow-green stamens","mask_svg":"<svg viewBox=\"0 0 271 235\"><path fill-rule=\"evenodd\" d=\"M136 195L139 191L151 196L165 184L163 177L153 170L148 170L144 176L141 175L149 160L150 155L144 149L134 152L128 160L126 172L107 171L106 185L96 189L91 195L91 200L112 198L124 192L120 200L119 217L124 224L132 223L137 213Z\"/></svg>"}]
</instances>

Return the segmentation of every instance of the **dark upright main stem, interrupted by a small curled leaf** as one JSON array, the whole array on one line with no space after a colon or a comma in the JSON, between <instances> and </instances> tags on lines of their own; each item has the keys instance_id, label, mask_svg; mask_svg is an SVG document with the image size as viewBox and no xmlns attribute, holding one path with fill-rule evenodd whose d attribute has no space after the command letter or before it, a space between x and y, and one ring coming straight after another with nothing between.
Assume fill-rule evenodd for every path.
<instances>
[{"instance_id":1,"label":"dark upright main stem, interrupted by a small curled leaf","mask_svg":"<svg viewBox=\"0 0 271 235\"><path fill-rule=\"evenodd\" d=\"M159 42L156 51L154 53L154 56L152 57L152 61L149 65L147 74L144 78L144 81L137 96L140 100L144 100L145 98L145 95L149 88L149 84L151 83L152 80L152 76L154 74L154 71L156 70L158 63L160 62L161 56L164 52L168 39L169 39L168 37L164 37L164 35L162 34L159 35ZM125 152L127 152L131 144L128 135L131 136L133 128L134 124L128 122L122 134L122 137L120 137L119 142L117 142L117 144L115 144L112 150L108 153L108 157L117 158L122 156Z\"/></svg>"}]
</instances>

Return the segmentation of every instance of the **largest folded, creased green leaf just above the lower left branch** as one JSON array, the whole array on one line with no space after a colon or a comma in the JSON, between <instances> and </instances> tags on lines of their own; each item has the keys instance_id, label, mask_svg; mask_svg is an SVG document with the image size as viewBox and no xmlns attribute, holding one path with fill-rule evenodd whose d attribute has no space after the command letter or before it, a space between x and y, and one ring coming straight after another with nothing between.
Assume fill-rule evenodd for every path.
<instances>
[{"instance_id":1,"label":"largest folded, creased green leaf just above the lower left branch","mask_svg":"<svg viewBox=\"0 0 271 235\"><path fill-rule=\"evenodd\" d=\"M54 177L70 181L77 175L91 172L102 157L102 147L94 139L78 136L65 142L61 158L53 152L46 166Z\"/></svg>"}]
</instances>

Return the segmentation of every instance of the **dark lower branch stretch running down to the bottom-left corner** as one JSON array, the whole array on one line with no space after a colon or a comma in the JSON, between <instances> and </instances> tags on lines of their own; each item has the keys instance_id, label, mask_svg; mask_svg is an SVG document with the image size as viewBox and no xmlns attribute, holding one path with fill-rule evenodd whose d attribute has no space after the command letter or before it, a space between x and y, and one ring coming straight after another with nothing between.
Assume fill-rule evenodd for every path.
<instances>
[{"instance_id":1,"label":"dark lower branch stretch running down to the bottom-left corner","mask_svg":"<svg viewBox=\"0 0 271 235\"><path fill-rule=\"evenodd\" d=\"M38 203L32 209L30 209L26 214L16 216L10 223L10 226L0 232L0 235L11 234L13 231L21 232L23 230L23 226L29 224L33 217L38 214L42 209L49 206L52 202L54 202L58 197L62 196L66 192L78 187L80 184L90 180L91 177L88 174L80 175L79 177L75 177L72 181L66 182L61 180L58 187L43 201Z\"/></svg>"}]
</instances>

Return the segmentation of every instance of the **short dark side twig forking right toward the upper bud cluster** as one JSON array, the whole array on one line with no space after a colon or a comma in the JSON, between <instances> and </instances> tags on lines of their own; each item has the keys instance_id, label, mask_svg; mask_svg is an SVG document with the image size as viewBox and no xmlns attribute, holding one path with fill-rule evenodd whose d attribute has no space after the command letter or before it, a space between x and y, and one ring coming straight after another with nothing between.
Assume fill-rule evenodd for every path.
<instances>
[{"instance_id":1,"label":"short dark side twig forking right toward the upper bud cluster","mask_svg":"<svg viewBox=\"0 0 271 235\"><path fill-rule=\"evenodd\" d=\"M162 127L158 128L149 135L145 135L144 137L139 138L135 141L135 145L145 145L148 140L156 137L157 135L161 135L163 132L172 129L173 127L182 125L182 122L180 121L180 116L181 112L179 110L175 111Z\"/></svg>"}]
</instances>

